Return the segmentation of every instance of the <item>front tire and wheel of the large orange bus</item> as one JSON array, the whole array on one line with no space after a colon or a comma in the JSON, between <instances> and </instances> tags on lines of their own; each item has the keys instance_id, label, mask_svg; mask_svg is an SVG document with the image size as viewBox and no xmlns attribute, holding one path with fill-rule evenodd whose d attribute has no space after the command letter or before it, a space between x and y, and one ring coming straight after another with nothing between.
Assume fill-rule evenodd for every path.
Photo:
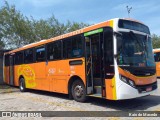
<instances>
[{"instance_id":1,"label":"front tire and wheel of the large orange bus","mask_svg":"<svg viewBox=\"0 0 160 120\"><path fill-rule=\"evenodd\" d=\"M80 80L76 80L72 84L72 96L74 100L78 102L85 102L87 97L86 97L86 89L84 84Z\"/></svg>"}]
</instances>

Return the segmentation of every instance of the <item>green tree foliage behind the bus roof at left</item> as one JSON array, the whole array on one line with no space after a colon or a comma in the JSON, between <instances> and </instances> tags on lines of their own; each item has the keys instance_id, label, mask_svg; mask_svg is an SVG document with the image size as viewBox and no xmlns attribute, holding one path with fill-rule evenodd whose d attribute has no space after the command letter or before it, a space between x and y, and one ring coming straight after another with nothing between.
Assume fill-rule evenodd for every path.
<instances>
[{"instance_id":1,"label":"green tree foliage behind the bus roof at left","mask_svg":"<svg viewBox=\"0 0 160 120\"><path fill-rule=\"evenodd\" d=\"M88 24L70 22L60 23L52 15L44 20L30 19L16 10L14 5L5 5L0 8L0 48L14 49L42 39L48 39L68 33Z\"/></svg>"}]
</instances>

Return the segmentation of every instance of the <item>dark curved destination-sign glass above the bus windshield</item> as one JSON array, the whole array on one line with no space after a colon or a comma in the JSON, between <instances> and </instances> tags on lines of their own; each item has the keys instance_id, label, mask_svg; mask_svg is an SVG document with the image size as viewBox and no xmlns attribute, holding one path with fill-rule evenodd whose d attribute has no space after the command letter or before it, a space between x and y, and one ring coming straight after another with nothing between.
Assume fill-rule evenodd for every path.
<instances>
[{"instance_id":1,"label":"dark curved destination-sign glass above the bus windshield","mask_svg":"<svg viewBox=\"0 0 160 120\"><path fill-rule=\"evenodd\" d=\"M125 29L131 29L131 30L137 30L140 32L150 34L149 28L138 22L133 22L133 21L128 21L128 20L119 20L118 27L125 28Z\"/></svg>"}]
</instances>

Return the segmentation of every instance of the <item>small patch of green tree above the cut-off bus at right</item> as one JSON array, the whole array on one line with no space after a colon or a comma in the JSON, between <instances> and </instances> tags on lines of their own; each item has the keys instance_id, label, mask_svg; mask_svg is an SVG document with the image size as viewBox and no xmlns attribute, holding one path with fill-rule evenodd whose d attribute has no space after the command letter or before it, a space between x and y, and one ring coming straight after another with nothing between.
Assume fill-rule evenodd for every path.
<instances>
[{"instance_id":1,"label":"small patch of green tree above the cut-off bus at right","mask_svg":"<svg viewBox=\"0 0 160 120\"><path fill-rule=\"evenodd\" d=\"M160 36L153 34L152 35L152 44L153 44L153 48L160 48Z\"/></svg>"}]
</instances>

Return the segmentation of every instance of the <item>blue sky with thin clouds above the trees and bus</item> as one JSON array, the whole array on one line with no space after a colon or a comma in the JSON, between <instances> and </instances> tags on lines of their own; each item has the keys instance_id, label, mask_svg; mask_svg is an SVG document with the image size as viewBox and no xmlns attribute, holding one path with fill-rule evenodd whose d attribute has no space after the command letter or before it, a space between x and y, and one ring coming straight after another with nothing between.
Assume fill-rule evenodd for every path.
<instances>
[{"instance_id":1,"label":"blue sky with thin clouds above the trees and bus","mask_svg":"<svg viewBox=\"0 0 160 120\"><path fill-rule=\"evenodd\" d=\"M126 6L132 7L130 17L150 27L160 36L160 0L7 0L27 17L47 19L54 15L67 20L95 24L112 18L127 18ZM4 0L0 0L0 7Z\"/></svg>"}]
</instances>

